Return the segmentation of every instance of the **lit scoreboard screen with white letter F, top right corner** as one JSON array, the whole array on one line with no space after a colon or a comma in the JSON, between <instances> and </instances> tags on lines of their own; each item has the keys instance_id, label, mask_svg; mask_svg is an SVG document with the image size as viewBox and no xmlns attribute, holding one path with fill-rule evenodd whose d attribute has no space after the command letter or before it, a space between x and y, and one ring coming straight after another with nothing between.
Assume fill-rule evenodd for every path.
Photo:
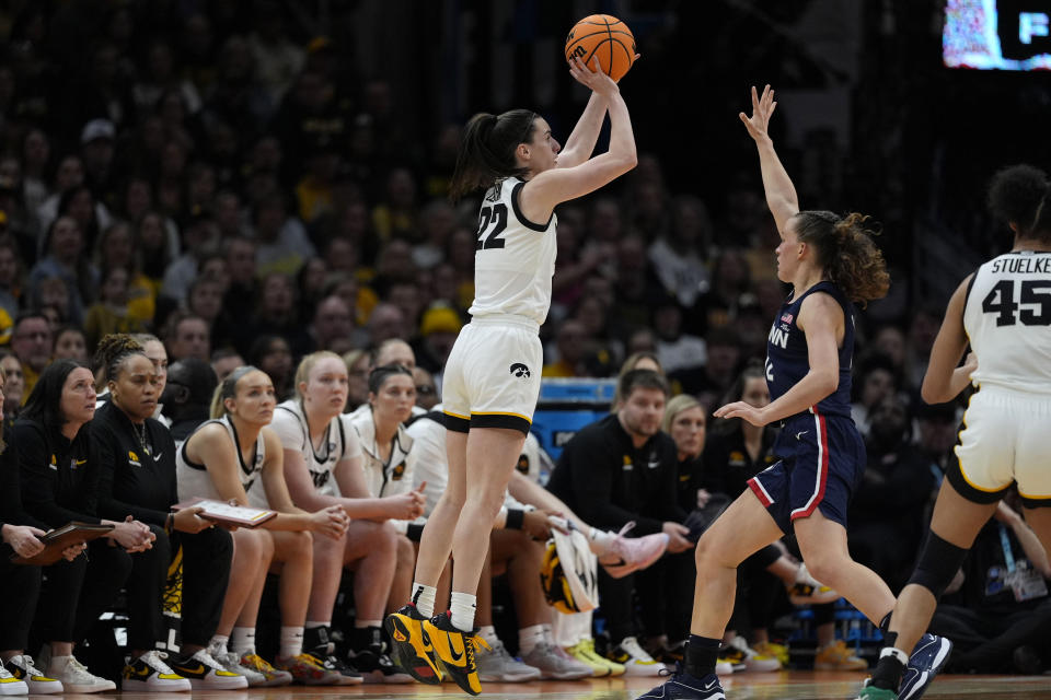
<instances>
[{"instance_id":1,"label":"lit scoreboard screen with white letter F, top right corner","mask_svg":"<svg viewBox=\"0 0 1051 700\"><path fill-rule=\"evenodd\" d=\"M949 68L1051 70L1051 0L946 0Z\"/></svg>"}]
</instances>

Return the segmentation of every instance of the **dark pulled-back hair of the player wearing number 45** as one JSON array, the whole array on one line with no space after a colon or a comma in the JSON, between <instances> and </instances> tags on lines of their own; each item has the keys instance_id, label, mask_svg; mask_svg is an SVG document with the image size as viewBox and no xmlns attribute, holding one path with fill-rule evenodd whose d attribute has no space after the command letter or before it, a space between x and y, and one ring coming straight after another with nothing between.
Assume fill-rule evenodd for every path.
<instances>
[{"instance_id":1,"label":"dark pulled-back hair of the player wearing number 45","mask_svg":"<svg viewBox=\"0 0 1051 700\"><path fill-rule=\"evenodd\" d=\"M993 175L989 210L1015 226L1015 234L1051 243L1051 183L1031 165L1012 165Z\"/></svg>"}]
</instances>

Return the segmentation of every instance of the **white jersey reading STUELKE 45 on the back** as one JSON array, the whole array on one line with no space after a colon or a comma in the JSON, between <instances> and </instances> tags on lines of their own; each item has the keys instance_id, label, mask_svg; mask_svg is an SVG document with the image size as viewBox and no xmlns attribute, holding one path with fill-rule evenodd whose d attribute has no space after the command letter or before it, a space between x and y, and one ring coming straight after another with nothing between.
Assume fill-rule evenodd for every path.
<instances>
[{"instance_id":1,"label":"white jersey reading STUELKE 45 on the back","mask_svg":"<svg viewBox=\"0 0 1051 700\"><path fill-rule=\"evenodd\" d=\"M1005 253L974 273L963 327L979 386L1051 395L1051 253Z\"/></svg>"}]
</instances>

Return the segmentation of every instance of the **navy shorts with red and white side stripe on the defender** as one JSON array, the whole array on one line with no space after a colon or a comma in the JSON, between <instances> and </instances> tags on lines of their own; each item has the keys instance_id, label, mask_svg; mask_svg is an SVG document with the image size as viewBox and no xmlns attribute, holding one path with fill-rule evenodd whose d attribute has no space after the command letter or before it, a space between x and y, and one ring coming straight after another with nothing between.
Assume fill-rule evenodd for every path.
<instances>
[{"instance_id":1,"label":"navy shorts with red and white side stripe on the defender","mask_svg":"<svg viewBox=\"0 0 1051 700\"><path fill-rule=\"evenodd\" d=\"M846 509L865 472L865 443L847 417L802 413L785 423L774 454L781 459L749 479L748 486L777 527L815 510L846 527Z\"/></svg>"}]
</instances>

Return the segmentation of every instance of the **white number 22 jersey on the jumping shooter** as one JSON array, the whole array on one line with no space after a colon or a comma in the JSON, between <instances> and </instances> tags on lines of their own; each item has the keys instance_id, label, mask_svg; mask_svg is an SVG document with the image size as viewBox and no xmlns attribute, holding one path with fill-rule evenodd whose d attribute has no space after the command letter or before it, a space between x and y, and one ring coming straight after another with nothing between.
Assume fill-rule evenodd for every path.
<instances>
[{"instance_id":1,"label":"white number 22 jersey on the jumping shooter","mask_svg":"<svg viewBox=\"0 0 1051 700\"><path fill-rule=\"evenodd\" d=\"M474 303L467 313L524 316L539 326L551 307L557 217L543 224L526 219L519 208L524 185L508 177L485 192L474 244Z\"/></svg>"}]
</instances>

